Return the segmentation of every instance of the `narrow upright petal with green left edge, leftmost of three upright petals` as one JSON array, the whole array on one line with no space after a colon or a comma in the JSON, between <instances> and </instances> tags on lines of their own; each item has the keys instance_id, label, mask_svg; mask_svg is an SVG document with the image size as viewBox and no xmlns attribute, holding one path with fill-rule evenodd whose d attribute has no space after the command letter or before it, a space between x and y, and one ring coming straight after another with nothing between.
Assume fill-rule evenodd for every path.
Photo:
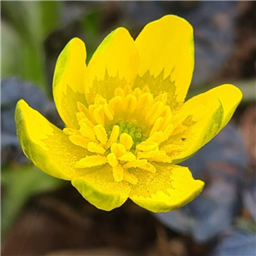
<instances>
[{"instance_id":1,"label":"narrow upright petal with green left edge, leftmost of three upright petals","mask_svg":"<svg viewBox=\"0 0 256 256\"><path fill-rule=\"evenodd\" d=\"M63 122L71 128L79 128L76 114L77 102L86 105L84 96L86 76L86 49L84 42L73 38L61 51L53 80L56 108Z\"/></svg>"}]
</instances>

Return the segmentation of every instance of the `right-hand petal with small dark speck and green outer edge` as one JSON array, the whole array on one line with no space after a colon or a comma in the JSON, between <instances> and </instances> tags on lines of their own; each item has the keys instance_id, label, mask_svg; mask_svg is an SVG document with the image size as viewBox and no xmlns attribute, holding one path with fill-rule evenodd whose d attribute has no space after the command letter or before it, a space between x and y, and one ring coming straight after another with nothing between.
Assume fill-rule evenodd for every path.
<instances>
[{"instance_id":1,"label":"right-hand petal with small dark speck and green outer edge","mask_svg":"<svg viewBox=\"0 0 256 256\"><path fill-rule=\"evenodd\" d=\"M188 118L183 121L183 125L187 129L170 137L165 143L170 144L171 147L174 144L183 148L183 150L172 152L170 155L175 164L195 154L198 149L217 135L224 116L224 109L217 98L196 104L185 102L179 111L188 114Z\"/></svg>"}]
</instances>

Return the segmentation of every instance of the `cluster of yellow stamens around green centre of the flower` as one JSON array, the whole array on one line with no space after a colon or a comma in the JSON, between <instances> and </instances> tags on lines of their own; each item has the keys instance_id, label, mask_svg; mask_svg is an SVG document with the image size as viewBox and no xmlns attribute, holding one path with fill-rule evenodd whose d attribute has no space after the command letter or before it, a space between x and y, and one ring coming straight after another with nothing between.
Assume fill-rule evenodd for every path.
<instances>
[{"instance_id":1,"label":"cluster of yellow stamens around green centre of the flower","mask_svg":"<svg viewBox=\"0 0 256 256\"><path fill-rule=\"evenodd\" d=\"M156 172L154 162L171 163L170 139L183 131L186 115L175 120L166 105L165 93L155 97L148 87L131 90L117 88L110 101L97 95L88 108L78 102L79 129L65 128L69 140L84 148L77 168L113 167L116 182L137 183L131 169Z\"/></svg>"}]
</instances>

